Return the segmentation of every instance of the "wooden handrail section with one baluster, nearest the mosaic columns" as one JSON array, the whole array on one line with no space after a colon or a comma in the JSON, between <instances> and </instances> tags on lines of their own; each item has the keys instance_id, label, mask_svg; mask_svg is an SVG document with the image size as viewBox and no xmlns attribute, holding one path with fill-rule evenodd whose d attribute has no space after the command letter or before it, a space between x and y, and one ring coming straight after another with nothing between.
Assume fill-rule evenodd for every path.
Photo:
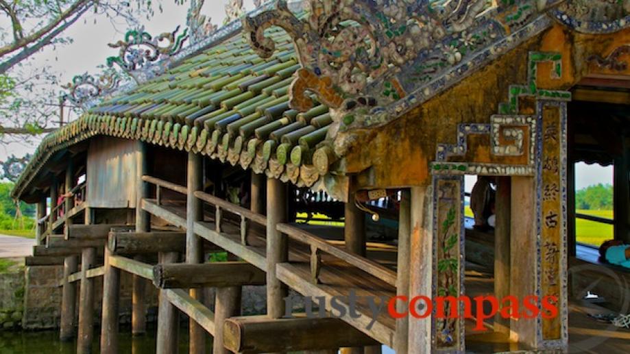
<instances>
[{"instance_id":1,"label":"wooden handrail section with one baluster, nearest the mosaic columns","mask_svg":"<svg viewBox=\"0 0 630 354\"><path fill-rule=\"evenodd\" d=\"M344 262L355 266L363 270L365 273L372 275L380 280L385 281L391 286L396 286L396 272L382 266L372 260L368 260L365 257L361 257L358 255L353 255L351 253L346 252L345 250L328 243L323 238L319 238L312 233L308 233L302 229L298 229L298 227L293 227L287 224L278 224L276 227L278 231L282 233L286 233L289 238L296 240L298 242L302 242L304 244L308 244L311 246L311 252L313 255L311 256L311 273L314 277L319 274L318 262L319 259L318 251L324 251L330 255L333 255ZM313 279L317 280L317 279Z\"/></svg>"}]
</instances>

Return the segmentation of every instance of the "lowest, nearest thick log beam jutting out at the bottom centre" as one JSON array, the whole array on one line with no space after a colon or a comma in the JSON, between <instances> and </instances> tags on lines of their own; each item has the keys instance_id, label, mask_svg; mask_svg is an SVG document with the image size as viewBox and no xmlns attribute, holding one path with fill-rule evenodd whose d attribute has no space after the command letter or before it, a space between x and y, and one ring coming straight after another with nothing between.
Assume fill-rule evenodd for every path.
<instances>
[{"instance_id":1,"label":"lowest, nearest thick log beam jutting out at the bottom centre","mask_svg":"<svg viewBox=\"0 0 630 354\"><path fill-rule=\"evenodd\" d=\"M338 318L245 316L223 323L225 345L234 353L274 353L378 344Z\"/></svg>"}]
</instances>

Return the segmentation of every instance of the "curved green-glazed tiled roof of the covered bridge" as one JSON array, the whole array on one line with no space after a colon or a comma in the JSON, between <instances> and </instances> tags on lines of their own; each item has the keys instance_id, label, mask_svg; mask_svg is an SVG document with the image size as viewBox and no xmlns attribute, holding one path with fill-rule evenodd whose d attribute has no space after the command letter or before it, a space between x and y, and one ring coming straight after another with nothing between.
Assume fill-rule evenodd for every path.
<instances>
[{"instance_id":1,"label":"curved green-glazed tiled roof of the covered bridge","mask_svg":"<svg viewBox=\"0 0 630 354\"><path fill-rule=\"evenodd\" d=\"M277 49L271 58L260 58L243 36L234 36L53 132L14 196L52 153L98 134L199 152L313 186L337 159L326 142L332 120L324 105L299 114L289 108L287 91L300 65L291 38L282 29L268 31Z\"/></svg>"}]
</instances>

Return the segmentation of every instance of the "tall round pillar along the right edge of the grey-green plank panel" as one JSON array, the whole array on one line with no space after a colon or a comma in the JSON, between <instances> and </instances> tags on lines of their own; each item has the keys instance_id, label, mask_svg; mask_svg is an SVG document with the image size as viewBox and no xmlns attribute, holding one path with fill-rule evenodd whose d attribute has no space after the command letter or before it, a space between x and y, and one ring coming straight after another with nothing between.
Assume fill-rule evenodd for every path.
<instances>
[{"instance_id":1,"label":"tall round pillar along the right edge of the grey-green plank panel","mask_svg":"<svg viewBox=\"0 0 630 354\"><path fill-rule=\"evenodd\" d=\"M142 180L142 176L149 172L148 166L147 144L142 143L136 155L136 232L151 231L149 213L142 209L142 200L149 197L149 184ZM136 256L136 259L142 260L142 256ZM141 336L147 331L147 279L133 275L132 285L131 331L133 336Z\"/></svg>"}]
</instances>

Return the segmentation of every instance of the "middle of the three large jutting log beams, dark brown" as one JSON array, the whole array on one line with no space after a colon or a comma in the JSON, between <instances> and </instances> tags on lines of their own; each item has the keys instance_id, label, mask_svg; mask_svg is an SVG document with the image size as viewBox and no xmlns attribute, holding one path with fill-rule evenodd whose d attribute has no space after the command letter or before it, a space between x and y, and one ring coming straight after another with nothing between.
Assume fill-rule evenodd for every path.
<instances>
[{"instance_id":1,"label":"middle of the three large jutting log beams, dark brown","mask_svg":"<svg viewBox=\"0 0 630 354\"><path fill-rule=\"evenodd\" d=\"M247 262L206 264L157 264L153 283L157 288L223 288L265 285L265 272Z\"/></svg>"}]
</instances>

